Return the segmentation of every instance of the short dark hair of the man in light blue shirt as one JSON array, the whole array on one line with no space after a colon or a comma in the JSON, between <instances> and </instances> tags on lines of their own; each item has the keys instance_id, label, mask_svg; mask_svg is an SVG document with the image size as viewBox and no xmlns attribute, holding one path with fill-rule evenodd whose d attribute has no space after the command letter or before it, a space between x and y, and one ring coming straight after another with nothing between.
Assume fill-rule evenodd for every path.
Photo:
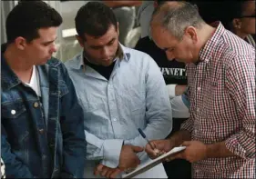
<instances>
[{"instance_id":1,"label":"short dark hair of the man in light blue shirt","mask_svg":"<svg viewBox=\"0 0 256 179\"><path fill-rule=\"evenodd\" d=\"M88 2L77 12L75 18L77 34L85 39L85 34L99 37L105 35L110 25L118 27L112 9L99 2Z\"/></svg>"}]
</instances>

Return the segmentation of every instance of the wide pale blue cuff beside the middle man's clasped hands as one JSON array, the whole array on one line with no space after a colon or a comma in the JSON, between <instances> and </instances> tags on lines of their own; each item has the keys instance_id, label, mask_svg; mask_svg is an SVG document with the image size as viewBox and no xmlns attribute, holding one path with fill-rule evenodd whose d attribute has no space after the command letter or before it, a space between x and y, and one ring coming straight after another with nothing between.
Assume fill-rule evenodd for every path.
<instances>
[{"instance_id":1,"label":"wide pale blue cuff beside the middle man's clasped hands","mask_svg":"<svg viewBox=\"0 0 256 179\"><path fill-rule=\"evenodd\" d=\"M124 141L119 139L105 140L103 144L104 158L101 164L110 168L117 168L123 143Z\"/></svg>"}]
</instances>

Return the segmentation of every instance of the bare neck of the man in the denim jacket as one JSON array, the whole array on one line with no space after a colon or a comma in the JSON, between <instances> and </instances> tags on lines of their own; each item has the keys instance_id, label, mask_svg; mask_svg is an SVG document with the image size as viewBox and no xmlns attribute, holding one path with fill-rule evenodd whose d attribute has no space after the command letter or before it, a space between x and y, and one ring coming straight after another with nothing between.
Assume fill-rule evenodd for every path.
<instances>
[{"instance_id":1,"label":"bare neck of the man in the denim jacket","mask_svg":"<svg viewBox=\"0 0 256 179\"><path fill-rule=\"evenodd\" d=\"M26 59L12 45L7 46L4 56L7 65L9 65L15 75L22 82L29 83L33 72L33 65L27 63Z\"/></svg>"}]
</instances>

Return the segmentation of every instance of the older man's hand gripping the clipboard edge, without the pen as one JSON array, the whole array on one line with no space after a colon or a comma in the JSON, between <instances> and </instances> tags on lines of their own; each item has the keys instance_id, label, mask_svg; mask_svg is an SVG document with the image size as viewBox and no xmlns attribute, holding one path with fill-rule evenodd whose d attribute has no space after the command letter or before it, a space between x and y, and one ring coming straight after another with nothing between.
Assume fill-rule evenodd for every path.
<instances>
[{"instance_id":1,"label":"older man's hand gripping the clipboard edge, without the pen","mask_svg":"<svg viewBox=\"0 0 256 179\"><path fill-rule=\"evenodd\" d=\"M170 156L166 161L169 162L170 160L180 158L190 163L195 163L207 158L207 146L200 141L185 141L182 143L182 146L186 146L187 148L178 154Z\"/></svg>"}]
</instances>

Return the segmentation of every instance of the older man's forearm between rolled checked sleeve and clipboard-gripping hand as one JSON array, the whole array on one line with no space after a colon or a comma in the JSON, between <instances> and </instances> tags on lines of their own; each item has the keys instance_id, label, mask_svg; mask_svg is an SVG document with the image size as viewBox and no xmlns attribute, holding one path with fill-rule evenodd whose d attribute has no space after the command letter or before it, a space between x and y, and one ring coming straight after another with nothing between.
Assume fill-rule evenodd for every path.
<instances>
[{"instance_id":1,"label":"older man's forearm between rolled checked sleeve and clipboard-gripping hand","mask_svg":"<svg viewBox=\"0 0 256 179\"><path fill-rule=\"evenodd\" d=\"M206 145L206 155L207 158L219 158L219 157L228 157L234 156L229 149L227 149L225 142L207 144Z\"/></svg>"}]
</instances>

